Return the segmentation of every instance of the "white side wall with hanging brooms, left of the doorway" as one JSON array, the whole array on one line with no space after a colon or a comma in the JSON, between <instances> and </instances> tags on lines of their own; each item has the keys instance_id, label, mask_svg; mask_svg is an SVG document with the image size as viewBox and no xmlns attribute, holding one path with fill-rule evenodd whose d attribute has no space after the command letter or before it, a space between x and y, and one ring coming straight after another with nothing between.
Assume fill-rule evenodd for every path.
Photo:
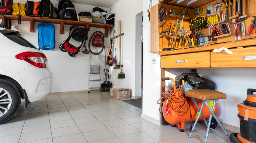
<instances>
[{"instance_id":1,"label":"white side wall with hanging brooms, left of the doorway","mask_svg":"<svg viewBox=\"0 0 256 143\"><path fill-rule=\"evenodd\" d=\"M135 95L135 74L140 72L140 70L135 69L135 25L136 25L136 14L143 10L142 0L119 0L113 7L111 7L111 13L116 13L115 27L117 33L117 21L121 21L121 58L123 65L123 73L125 74L125 79L118 79L118 73L120 70L111 70L112 72L112 82L114 83L114 88L130 88L132 90L132 96ZM113 33L110 30L110 33ZM112 34L111 34L112 35ZM118 52L119 53L119 52ZM119 64L119 57L117 58L117 63Z\"/></svg>"}]
</instances>

